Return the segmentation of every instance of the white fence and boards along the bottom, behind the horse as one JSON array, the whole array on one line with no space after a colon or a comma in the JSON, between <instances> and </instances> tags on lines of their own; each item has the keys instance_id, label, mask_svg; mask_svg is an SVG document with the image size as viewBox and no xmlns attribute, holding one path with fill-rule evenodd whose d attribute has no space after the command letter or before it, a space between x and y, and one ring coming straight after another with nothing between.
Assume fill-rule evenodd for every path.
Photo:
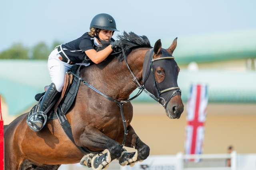
<instances>
[{"instance_id":1,"label":"white fence and boards along the bottom, behind the horse","mask_svg":"<svg viewBox=\"0 0 256 170\"><path fill-rule=\"evenodd\" d=\"M188 162L189 159L200 160ZM226 167L227 160L231 167ZM59 170L83 170L78 164L62 165ZM90 168L91 169L91 168ZM256 154L182 154L149 156L143 162L133 167L120 166L118 161L112 161L108 170L256 170Z\"/></svg>"}]
</instances>

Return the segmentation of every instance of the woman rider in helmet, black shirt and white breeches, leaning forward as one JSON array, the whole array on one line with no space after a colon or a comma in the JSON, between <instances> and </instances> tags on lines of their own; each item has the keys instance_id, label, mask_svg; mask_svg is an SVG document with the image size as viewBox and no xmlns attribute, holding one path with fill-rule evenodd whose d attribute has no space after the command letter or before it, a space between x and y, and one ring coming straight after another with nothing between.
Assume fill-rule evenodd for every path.
<instances>
[{"instance_id":1,"label":"woman rider in helmet, black shirt and white breeches, leaning forward","mask_svg":"<svg viewBox=\"0 0 256 170\"><path fill-rule=\"evenodd\" d=\"M114 48L121 48L120 41L114 41L112 35L116 29L116 22L114 18L108 14L96 15L90 24L90 32L84 33L82 37L69 43L57 46L48 59L48 70L51 76L52 84L44 94L40 104L37 116L28 120L28 124L33 131L40 131L42 129L44 118L42 114L58 97L62 91L64 84L64 75L70 70L71 66L76 63L82 63L84 59L89 60L86 66L91 63L101 63ZM100 41L112 41L108 47L102 51L96 51L96 47L100 47Z\"/></svg>"}]
</instances>

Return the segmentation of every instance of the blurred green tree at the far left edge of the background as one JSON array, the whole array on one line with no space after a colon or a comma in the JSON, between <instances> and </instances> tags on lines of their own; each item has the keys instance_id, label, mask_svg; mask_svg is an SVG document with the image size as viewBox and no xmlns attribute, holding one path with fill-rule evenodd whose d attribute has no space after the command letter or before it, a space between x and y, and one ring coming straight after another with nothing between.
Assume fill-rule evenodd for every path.
<instances>
[{"instance_id":1,"label":"blurred green tree at the far left edge of the background","mask_svg":"<svg viewBox=\"0 0 256 170\"><path fill-rule=\"evenodd\" d=\"M21 43L12 45L10 49L4 50L0 53L0 59L28 59L27 47L24 47Z\"/></svg>"}]
</instances>

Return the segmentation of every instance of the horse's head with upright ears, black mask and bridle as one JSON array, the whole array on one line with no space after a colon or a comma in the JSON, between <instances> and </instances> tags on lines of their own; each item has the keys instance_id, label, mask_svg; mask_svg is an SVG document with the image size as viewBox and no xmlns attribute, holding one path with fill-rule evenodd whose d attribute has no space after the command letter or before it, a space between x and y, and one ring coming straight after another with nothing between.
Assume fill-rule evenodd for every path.
<instances>
[{"instance_id":1,"label":"horse's head with upright ears, black mask and bridle","mask_svg":"<svg viewBox=\"0 0 256 170\"><path fill-rule=\"evenodd\" d=\"M160 39L156 41L154 50L145 55L142 73L146 90L159 100L171 119L179 119L184 110L177 83L180 68L172 57L176 46L177 38L168 49L162 48Z\"/></svg>"}]
</instances>

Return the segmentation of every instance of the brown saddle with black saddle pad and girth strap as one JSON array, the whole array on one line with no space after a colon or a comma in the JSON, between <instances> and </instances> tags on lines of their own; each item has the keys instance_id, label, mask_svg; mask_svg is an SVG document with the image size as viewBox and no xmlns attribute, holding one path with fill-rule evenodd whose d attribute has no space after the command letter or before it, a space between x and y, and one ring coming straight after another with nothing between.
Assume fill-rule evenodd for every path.
<instances>
[{"instance_id":1,"label":"brown saddle with black saddle pad and girth strap","mask_svg":"<svg viewBox=\"0 0 256 170\"><path fill-rule=\"evenodd\" d=\"M78 77L80 77L80 69L81 69L81 66L74 64L71 67L70 72L75 73ZM76 94L78 92L79 85L80 85L80 80L76 76L73 76L72 74L67 72L65 74L62 94L61 94L60 98L58 99L58 101L56 102L56 104L54 105L54 107L52 107L52 109L47 113L47 120L59 119L60 124L62 125L62 128L64 129L66 135L70 138L70 140L75 145L76 145L76 143L74 142L74 137L72 135L71 125L68 122L68 120L66 119L65 115L68 112L68 110L70 109L70 107L72 106L72 104L76 98ZM44 94L45 94L45 92L37 94L35 96L35 99L37 101L39 101L40 98L42 96L44 96ZM41 101L38 102L38 104L36 104L34 107L32 107L32 109L28 113L27 119L34 112L38 111L40 104L41 104ZM38 107L36 107L36 106L38 106ZM35 110L36 108L38 108L38 109ZM98 154L98 153L102 152L102 150L101 151L92 151L86 147L78 147L77 145L76 145L76 147L79 150L81 150L81 152L83 152L84 154L89 154L89 153Z\"/></svg>"}]
</instances>

